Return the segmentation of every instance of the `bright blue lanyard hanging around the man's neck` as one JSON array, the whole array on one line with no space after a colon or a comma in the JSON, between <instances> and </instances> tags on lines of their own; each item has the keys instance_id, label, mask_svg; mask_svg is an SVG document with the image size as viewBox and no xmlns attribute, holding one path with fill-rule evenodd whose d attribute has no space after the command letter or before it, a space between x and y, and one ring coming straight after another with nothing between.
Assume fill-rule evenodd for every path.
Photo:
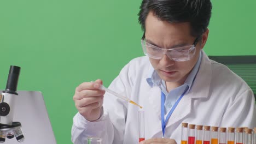
<instances>
[{"instance_id":1,"label":"bright blue lanyard hanging around the man's neck","mask_svg":"<svg viewBox=\"0 0 256 144\"><path fill-rule=\"evenodd\" d=\"M172 106L172 109L168 113L166 119L165 119L165 94L163 92L161 92L161 121L162 121L162 136L163 137L165 136L165 127L166 127L166 123L167 123L168 119L171 117L173 111L176 109L177 105L179 104L179 101L181 101L182 97L187 92L187 90L188 90L188 87L183 92L181 97L179 97L179 99L176 101L176 103Z\"/></svg>"}]
</instances>

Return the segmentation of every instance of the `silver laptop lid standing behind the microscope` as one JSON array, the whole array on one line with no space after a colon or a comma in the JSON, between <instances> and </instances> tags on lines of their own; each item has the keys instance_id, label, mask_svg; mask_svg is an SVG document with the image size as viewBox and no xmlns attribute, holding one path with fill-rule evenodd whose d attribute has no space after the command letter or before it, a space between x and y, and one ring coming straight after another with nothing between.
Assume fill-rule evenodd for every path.
<instances>
[{"instance_id":1,"label":"silver laptop lid standing behind the microscope","mask_svg":"<svg viewBox=\"0 0 256 144\"><path fill-rule=\"evenodd\" d=\"M17 93L19 95L16 97L13 121L21 123L25 137L22 144L56 144L42 93L38 91L18 91ZM6 138L4 143L20 144L15 137Z\"/></svg>"}]
</instances>

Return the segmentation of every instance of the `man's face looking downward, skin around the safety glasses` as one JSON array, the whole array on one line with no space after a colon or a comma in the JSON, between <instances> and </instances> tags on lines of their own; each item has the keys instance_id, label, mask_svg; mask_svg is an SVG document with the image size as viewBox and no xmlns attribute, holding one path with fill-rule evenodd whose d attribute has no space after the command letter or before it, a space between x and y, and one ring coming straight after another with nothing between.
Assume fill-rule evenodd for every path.
<instances>
[{"instance_id":1,"label":"man's face looking downward, skin around the safety glasses","mask_svg":"<svg viewBox=\"0 0 256 144\"><path fill-rule=\"evenodd\" d=\"M146 41L162 49L193 45L196 39L190 33L191 29L188 22L169 23L167 21L161 21L155 17L153 13L149 13L145 25ZM204 39L204 36L202 39ZM196 45L195 55L189 61L176 62L166 55L161 59L149 58L149 60L162 80L181 85L184 83L185 79L187 79L188 74L196 64L199 52L204 44L205 42L201 45L201 41L199 41Z\"/></svg>"}]
</instances>

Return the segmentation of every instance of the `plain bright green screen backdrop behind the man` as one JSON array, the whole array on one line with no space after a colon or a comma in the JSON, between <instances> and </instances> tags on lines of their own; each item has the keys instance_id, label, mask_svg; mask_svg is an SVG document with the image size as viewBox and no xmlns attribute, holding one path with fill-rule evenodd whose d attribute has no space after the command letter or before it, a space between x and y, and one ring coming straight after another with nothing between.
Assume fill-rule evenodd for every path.
<instances>
[{"instance_id":1,"label":"plain bright green screen backdrop behind the man","mask_svg":"<svg viewBox=\"0 0 256 144\"><path fill-rule=\"evenodd\" d=\"M71 142L74 89L104 85L143 56L141 1L0 1L0 89L10 65L21 67L18 90L41 91L57 143ZM256 1L212 1L208 55L256 55ZM15 121L19 121L16 119Z\"/></svg>"}]
</instances>

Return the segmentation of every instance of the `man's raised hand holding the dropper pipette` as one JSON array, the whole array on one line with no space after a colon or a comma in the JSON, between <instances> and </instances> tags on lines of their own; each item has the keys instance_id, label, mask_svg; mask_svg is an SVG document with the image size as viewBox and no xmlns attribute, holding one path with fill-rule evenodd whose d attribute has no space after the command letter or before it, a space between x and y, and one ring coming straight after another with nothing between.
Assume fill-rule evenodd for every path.
<instances>
[{"instance_id":1,"label":"man's raised hand holding the dropper pipette","mask_svg":"<svg viewBox=\"0 0 256 144\"><path fill-rule=\"evenodd\" d=\"M96 121L101 116L103 95L105 91L100 89L101 80L84 82L75 88L73 97L78 112L88 121Z\"/></svg>"}]
</instances>

